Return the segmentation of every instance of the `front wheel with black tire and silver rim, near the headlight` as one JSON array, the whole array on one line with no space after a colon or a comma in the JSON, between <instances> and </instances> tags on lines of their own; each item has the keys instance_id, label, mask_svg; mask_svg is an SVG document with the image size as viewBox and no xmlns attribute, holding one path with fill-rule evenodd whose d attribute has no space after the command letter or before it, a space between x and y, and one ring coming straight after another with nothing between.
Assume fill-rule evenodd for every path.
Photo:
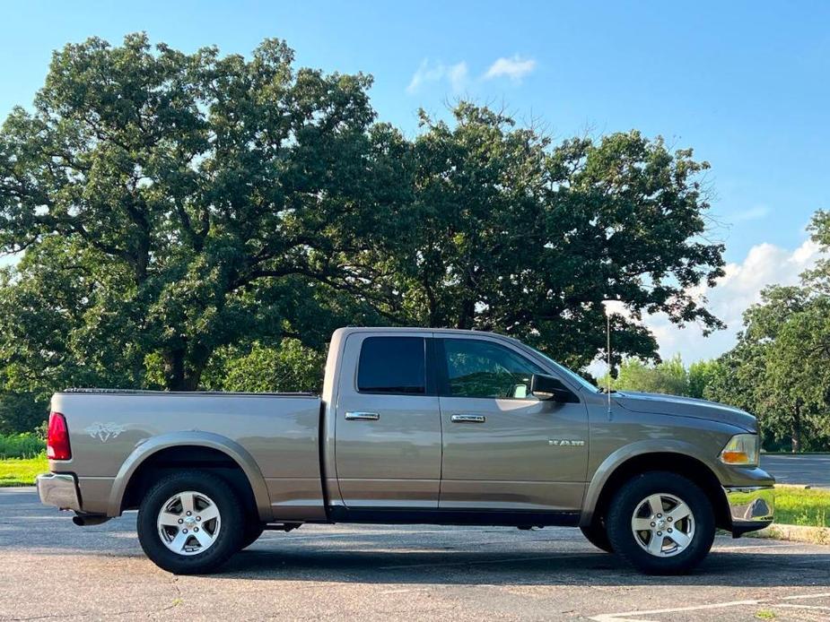
<instances>
[{"instance_id":1,"label":"front wheel with black tire and silver rim, near the headlight","mask_svg":"<svg viewBox=\"0 0 830 622\"><path fill-rule=\"evenodd\" d=\"M646 574L689 572L712 549L715 535L706 493L668 471L650 471L625 482L606 524L616 554ZM638 526L643 529L635 531Z\"/></svg>"}]
</instances>

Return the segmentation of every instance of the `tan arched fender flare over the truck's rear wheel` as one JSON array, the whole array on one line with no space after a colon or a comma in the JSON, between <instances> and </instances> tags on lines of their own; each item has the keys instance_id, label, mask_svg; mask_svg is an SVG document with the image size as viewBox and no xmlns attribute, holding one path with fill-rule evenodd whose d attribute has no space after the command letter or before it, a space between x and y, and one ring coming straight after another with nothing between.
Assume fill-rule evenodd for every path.
<instances>
[{"instance_id":1,"label":"tan arched fender flare over the truck's rear wheel","mask_svg":"<svg viewBox=\"0 0 830 622\"><path fill-rule=\"evenodd\" d=\"M250 488L254 493L259 520L268 522L273 519L271 499L268 496L265 478L262 476L262 471L259 471L257 461L249 454L248 450L227 436L199 431L170 432L169 434L163 434L161 436L153 436L143 443L136 445L133 452L127 456L127 460L121 465L121 468L118 470L118 475L113 480L112 489L109 493L107 515L121 515L121 502L124 499L124 493L127 491L130 479L135 475L135 471L144 464L144 461L162 450L182 445L215 449L227 455L233 462L236 462L248 478Z\"/></svg>"}]
</instances>

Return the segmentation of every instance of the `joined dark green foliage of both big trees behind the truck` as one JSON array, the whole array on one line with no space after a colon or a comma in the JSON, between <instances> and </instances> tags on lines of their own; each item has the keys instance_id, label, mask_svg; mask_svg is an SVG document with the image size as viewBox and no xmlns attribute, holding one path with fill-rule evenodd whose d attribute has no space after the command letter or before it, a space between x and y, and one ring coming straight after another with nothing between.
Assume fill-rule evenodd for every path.
<instances>
[{"instance_id":1,"label":"joined dark green foliage of both big trees behind the truck","mask_svg":"<svg viewBox=\"0 0 830 622\"><path fill-rule=\"evenodd\" d=\"M0 277L7 389L283 388L259 372L345 324L491 329L582 367L604 299L628 311L617 360L657 359L643 312L721 326L687 293L723 263L692 151L555 144L467 102L406 139L370 86L278 40L56 52L0 130L0 251L22 253Z\"/></svg>"}]
</instances>

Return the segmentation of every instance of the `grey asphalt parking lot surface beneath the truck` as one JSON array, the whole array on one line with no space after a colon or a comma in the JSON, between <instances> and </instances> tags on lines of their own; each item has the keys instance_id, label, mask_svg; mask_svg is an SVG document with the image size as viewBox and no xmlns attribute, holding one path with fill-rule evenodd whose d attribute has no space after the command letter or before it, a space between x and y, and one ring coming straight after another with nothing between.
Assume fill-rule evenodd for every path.
<instances>
[{"instance_id":1,"label":"grey asphalt parking lot surface beneath the truck","mask_svg":"<svg viewBox=\"0 0 830 622\"><path fill-rule=\"evenodd\" d=\"M31 488L0 488L0 562L0 619L830 619L830 547L718 537L695 574L650 577L573 529L307 525L177 577L135 514L75 527Z\"/></svg>"}]
</instances>

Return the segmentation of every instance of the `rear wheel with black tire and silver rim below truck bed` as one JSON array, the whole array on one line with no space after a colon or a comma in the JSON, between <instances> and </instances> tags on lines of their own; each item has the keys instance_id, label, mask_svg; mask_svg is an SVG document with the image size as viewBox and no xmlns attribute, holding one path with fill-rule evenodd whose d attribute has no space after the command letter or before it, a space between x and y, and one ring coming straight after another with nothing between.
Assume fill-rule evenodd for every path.
<instances>
[{"instance_id":1,"label":"rear wheel with black tire and silver rim below truck bed","mask_svg":"<svg viewBox=\"0 0 830 622\"><path fill-rule=\"evenodd\" d=\"M239 498L208 471L164 477L138 509L141 548L173 574L206 574L222 566L240 550L244 525Z\"/></svg>"}]
</instances>

